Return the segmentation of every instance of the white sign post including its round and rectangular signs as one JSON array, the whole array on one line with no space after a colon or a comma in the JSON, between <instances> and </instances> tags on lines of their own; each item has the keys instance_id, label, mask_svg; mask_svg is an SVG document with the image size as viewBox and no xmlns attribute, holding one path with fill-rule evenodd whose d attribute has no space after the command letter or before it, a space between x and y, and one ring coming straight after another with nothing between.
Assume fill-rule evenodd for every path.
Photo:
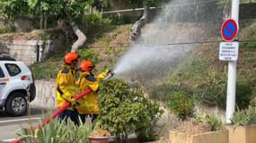
<instances>
[{"instance_id":1,"label":"white sign post including its round and rectangular signs","mask_svg":"<svg viewBox=\"0 0 256 143\"><path fill-rule=\"evenodd\" d=\"M238 33L238 15L239 0L232 0L232 19L226 20L222 25L221 34L225 42L221 42L219 47L219 59L228 61L225 123L231 123L235 109L236 63L239 43L233 41Z\"/></svg>"}]
</instances>

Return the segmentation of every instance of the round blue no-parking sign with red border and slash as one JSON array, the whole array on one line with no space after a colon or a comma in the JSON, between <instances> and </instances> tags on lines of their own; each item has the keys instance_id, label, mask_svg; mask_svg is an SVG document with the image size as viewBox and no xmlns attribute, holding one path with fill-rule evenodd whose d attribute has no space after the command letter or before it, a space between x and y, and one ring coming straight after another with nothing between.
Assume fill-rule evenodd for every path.
<instances>
[{"instance_id":1,"label":"round blue no-parking sign with red border and slash","mask_svg":"<svg viewBox=\"0 0 256 143\"><path fill-rule=\"evenodd\" d=\"M233 19L224 21L221 27L221 36L226 42L233 41L238 32L238 24Z\"/></svg>"}]
</instances>

